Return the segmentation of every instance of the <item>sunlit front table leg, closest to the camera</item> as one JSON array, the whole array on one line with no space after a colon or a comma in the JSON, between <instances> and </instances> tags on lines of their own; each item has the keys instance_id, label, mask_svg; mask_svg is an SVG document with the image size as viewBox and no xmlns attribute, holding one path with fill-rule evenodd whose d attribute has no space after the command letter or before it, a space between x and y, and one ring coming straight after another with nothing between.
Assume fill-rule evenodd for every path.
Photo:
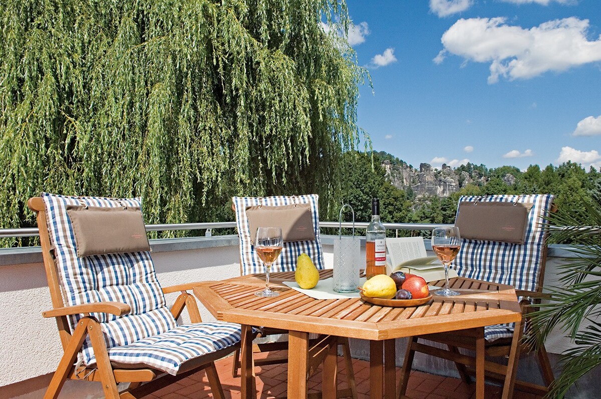
<instances>
[{"instance_id":1,"label":"sunlit front table leg, closest to the camera","mask_svg":"<svg viewBox=\"0 0 601 399\"><path fill-rule=\"evenodd\" d=\"M288 332L288 398L307 397L308 350L308 332Z\"/></svg>"}]
</instances>

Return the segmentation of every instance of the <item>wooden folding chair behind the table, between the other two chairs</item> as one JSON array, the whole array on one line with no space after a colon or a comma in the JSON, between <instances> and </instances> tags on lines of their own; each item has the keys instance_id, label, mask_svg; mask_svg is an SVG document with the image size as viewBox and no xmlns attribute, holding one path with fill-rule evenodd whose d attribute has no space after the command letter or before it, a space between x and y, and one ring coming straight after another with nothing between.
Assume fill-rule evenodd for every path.
<instances>
[{"instance_id":1,"label":"wooden folding chair behind the table, between the other two chairs","mask_svg":"<svg viewBox=\"0 0 601 399\"><path fill-rule=\"evenodd\" d=\"M272 266L273 272L289 272L296 269L296 260L302 253L305 253L311 257L315 263L317 269L325 269L325 263L323 261L322 245L320 243L319 233L319 196L316 194L311 195L298 195L298 196L269 196L263 198L251 198L251 197L234 197L232 198L232 209L236 214L236 224L238 229L238 237L240 240L240 274L248 275L253 273L263 273L263 266L258 260L257 254L251 243L251 232L249 231L249 222L246 215L246 209L251 206L265 206L269 209L270 206L294 206L294 204L310 204L311 206L311 218L313 219L313 230L315 240L307 241L296 241L296 242L284 242L284 248L282 248L282 254L276 263ZM257 327L260 330L258 337L273 337L276 335L287 334L286 330L277 329L266 329L264 327ZM338 391L338 397L353 397L357 398L355 374L353 373L353 362L350 355L349 339L343 337L337 337L338 344L342 346L345 370L347 373L347 380L349 388L340 389ZM312 344L317 344L323 340L323 337L314 337L311 339ZM258 352L273 352L288 349L288 342L267 342L255 344L253 346L254 353ZM234 377L237 376L238 369L240 368L240 357L238 353L234 357L234 364L232 374ZM288 362L287 353L284 355L272 355L269 354L263 359L254 359L255 365L269 365L269 364L282 364Z\"/></svg>"}]
</instances>

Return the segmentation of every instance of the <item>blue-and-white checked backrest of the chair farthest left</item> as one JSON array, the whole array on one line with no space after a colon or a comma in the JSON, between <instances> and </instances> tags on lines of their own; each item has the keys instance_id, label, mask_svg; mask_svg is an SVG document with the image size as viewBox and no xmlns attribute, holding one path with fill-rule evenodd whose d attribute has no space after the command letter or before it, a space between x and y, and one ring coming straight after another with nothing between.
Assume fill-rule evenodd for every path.
<instances>
[{"instance_id":1,"label":"blue-and-white checked backrest of the chair farthest left","mask_svg":"<svg viewBox=\"0 0 601 399\"><path fill-rule=\"evenodd\" d=\"M32 198L32 200L37 200ZM44 209L38 211L38 228L44 255L44 265L53 306L116 301L130 305L129 314L117 317L94 314L102 324L108 348L122 346L161 334L177 325L166 306L157 281L150 252L106 254L78 257L72 223L67 206L140 207L139 198L98 198L41 194ZM45 231L44 231L45 230ZM47 233L47 234L46 234ZM63 298L59 297L62 291ZM82 315L70 321L71 327ZM59 325L59 329L61 326ZM64 335L61 336L64 342ZM82 349L86 364L94 362L89 338Z\"/></svg>"}]
</instances>

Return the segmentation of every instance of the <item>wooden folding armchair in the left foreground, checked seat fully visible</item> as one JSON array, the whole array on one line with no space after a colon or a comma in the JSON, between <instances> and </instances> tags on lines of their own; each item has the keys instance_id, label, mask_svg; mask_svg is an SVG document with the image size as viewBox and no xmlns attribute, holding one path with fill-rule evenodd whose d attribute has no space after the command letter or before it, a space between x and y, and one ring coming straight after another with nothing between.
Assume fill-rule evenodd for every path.
<instances>
[{"instance_id":1,"label":"wooden folding armchair in the left foreground, checked seat fully visible","mask_svg":"<svg viewBox=\"0 0 601 399\"><path fill-rule=\"evenodd\" d=\"M45 399L58 397L67 378L100 381L106 398L135 398L198 370L206 371L213 396L224 398L214 361L239 348L239 324L203 323L187 292L194 284L161 289L148 251L76 253L67 207L141 207L139 199L43 193L28 206L37 213L52 299L42 315L56 319L64 350ZM178 291L169 309L163 294ZM184 308L193 324L178 326ZM119 392L121 382L130 384Z\"/></svg>"}]
</instances>

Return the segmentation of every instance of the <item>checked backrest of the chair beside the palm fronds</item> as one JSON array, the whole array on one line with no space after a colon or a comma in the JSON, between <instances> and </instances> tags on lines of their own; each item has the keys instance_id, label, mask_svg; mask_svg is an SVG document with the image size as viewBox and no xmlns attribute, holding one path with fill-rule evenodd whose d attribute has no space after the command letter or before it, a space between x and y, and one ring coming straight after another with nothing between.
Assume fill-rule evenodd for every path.
<instances>
[{"instance_id":1,"label":"checked backrest of the chair beside the palm fronds","mask_svg":"<svg viewBox=\"0 0 601 399\"><path fill-rule=\"evenodd\" d=\"M523 244L462 239L462 247L455 258L457 273L463 277L513 285L518 290L542 289L547 235L542 227L551 211L553 198L549 194L460 197L459 204L496 201L532 203L533 206L528 213Z\"/></svg>"}]
</instances>

